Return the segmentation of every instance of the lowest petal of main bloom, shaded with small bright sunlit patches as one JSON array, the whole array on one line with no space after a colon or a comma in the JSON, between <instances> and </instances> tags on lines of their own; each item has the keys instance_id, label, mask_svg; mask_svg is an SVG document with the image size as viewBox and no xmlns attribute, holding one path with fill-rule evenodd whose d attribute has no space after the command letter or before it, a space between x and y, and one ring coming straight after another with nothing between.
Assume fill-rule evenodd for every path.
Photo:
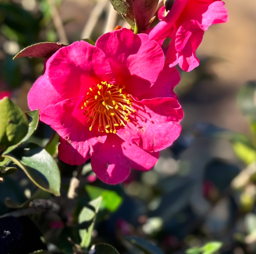
<instances>
[{"instance_id":1,"label":"lowest petal of main bloom, shaded with small bright sunlit patches","mask_svg":"<svg viewBox=\"0 0 256 254\"><path fill-rule=\"evenodd\" d=\"M101 181L117 184L128 177L131 167L139 170L151 169L158 156L158 153L146 152L112 134L98 152L92 155L92 170Z\"/></svg>"}]
</instances>

